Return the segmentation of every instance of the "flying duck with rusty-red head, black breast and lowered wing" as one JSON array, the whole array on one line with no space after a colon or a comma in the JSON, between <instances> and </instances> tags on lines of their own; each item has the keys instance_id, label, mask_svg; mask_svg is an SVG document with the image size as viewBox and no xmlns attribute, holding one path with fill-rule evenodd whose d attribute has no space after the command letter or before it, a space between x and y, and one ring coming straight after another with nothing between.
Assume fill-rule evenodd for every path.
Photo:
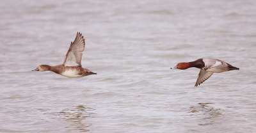
<instances>
[{"instance_id":1,"label":"flying duck with rusty-red head, black breast and lowered wing","mask_svg":"<svg viewBox=\"0 0 256 133\"><path fill-rule=\"evenodd\" d=\"M200 84L202 84L202 82L209 79L209 77L211 77L211 75L214 73L227 72L230 70L239 70L239 68L234 67L224 61L221 61L220 59L213 58L200 58L191 62L177 63L177 65L175 67L172 67L171 69L185 70L191 67L200 68L195 87L199 86Z\"/></svg>"}]
</instances>

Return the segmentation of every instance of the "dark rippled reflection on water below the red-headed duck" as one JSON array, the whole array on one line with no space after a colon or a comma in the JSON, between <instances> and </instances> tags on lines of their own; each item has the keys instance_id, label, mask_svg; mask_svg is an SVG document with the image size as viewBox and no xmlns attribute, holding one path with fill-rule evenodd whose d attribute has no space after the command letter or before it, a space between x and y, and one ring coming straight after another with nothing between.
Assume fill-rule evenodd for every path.
<instances>
[{"instance_id":1,"label":"dark rippled reflection on water below the red-headed duck","mask_svg":"<svg viewBox=\"0 0 256 133\"><path fill-rule=\"evenodd\" d=\"M189 111L189 113L193 113L191 116L200 116L198 125L214 125L218 123L218 117L222 116L222 110L215 109L211 107L210 104L214 103L198 103L198 106L190 107L191 111Z\"/></svg>"}]
</instances>

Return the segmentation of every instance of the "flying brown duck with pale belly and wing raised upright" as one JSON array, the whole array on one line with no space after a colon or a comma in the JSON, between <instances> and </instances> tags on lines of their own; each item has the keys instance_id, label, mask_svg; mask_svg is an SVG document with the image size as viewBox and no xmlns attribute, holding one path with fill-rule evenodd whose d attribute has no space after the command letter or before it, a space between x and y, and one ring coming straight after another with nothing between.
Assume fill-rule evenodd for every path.
<instances>
[{"instance_id":1,"label":"flying brown duck with pale belly and wing raised upright","mask_svg":"<svg viewBox=\"0 0 256 133\"><path fill-rule=\"evenodd\" d=\"M71 78L97 74L87 68L83 68L81 65L84 45L84 36L77 32L74 42L70 43L70 47L65 56L63 64L56 66L39 65L37 68L35 68L35 70L32 71L51 71Z\"/></svg>"}]
</instances>

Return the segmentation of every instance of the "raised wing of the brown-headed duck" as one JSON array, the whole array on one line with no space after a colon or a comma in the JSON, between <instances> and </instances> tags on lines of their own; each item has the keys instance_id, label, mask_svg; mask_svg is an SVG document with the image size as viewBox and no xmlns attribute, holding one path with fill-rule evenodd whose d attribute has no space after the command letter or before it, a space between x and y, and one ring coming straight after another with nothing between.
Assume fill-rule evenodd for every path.
<instances>
[{"instance_id":1,"label":"raised wing of the brown-headed duck","mask_svg":"<svg viewBox=\"0 0 256 133\"><path fill-rule=\"evenodd\" d=\"M83 51L84 51L84 36L81 33L76 34L76 39L71 42L68 52L65 56L63 65L74 67L81 66Z\"/></svg>"}]
</instances>

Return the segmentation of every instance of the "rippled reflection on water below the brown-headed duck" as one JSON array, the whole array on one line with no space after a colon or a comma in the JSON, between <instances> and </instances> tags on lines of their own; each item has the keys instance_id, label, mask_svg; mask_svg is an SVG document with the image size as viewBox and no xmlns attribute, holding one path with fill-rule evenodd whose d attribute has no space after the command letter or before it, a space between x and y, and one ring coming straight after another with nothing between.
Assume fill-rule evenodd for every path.
<instances>
[{"instance_id":1,"label":"rippled reflection on water below the brown-headed duck","mask_svg":"<svg viewBox=\"0 0 256 133\"><path fill-rule=\"evenodd\" d=\"M65 118L66 121L70 122L68 125L68 130L79 130L80 132L88 132L90 131L90 123L86 123L86 118L92 117L92 113L88 113L88 111L92 111L93 109L86 106L76 106L73 108L63 109L60 112L60 115Z\"/></svg>"}]
</instances>

